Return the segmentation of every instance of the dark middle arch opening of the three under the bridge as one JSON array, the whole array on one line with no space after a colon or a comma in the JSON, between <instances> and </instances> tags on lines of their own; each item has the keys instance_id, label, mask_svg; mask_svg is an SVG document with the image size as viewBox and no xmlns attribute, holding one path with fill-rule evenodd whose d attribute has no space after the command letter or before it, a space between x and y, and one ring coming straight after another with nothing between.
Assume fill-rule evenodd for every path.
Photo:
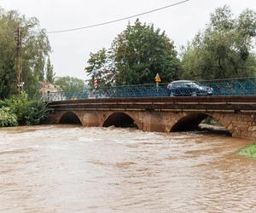
<instances>
[{"instance_id":1,"label":"dark middle arch opening of the three under the bridge","mask_svg":"<svg viewBox=\"0 0 256 213\"><path fill-rule=\"evenodd\" d=\"M134 120L123 112L116 112L110 115L102 125L103 127L115 126L120 128L137 128Z\"/></svg>"}]
</instances>

